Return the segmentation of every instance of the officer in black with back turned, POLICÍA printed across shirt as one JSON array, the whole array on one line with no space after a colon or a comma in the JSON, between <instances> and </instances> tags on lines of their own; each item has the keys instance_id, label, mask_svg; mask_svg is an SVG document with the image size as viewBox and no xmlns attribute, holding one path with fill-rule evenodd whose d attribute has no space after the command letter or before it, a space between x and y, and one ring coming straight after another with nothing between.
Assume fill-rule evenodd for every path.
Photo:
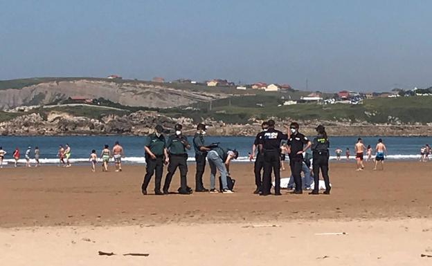
<instances>
[{"instance_id":1,"label":"officer in black with back turned, POLIC\u00cdA printed across shirt","mask_svg":"<svg viewBox=\"0 0 432 266\"><path fill-rule=\"evenodd\" d=\"M260 149L264 157L264 175L262 178L261 196L270 194L271 189L271 171L275 175L275 195L280 194L280 142L287 140L288 135L275 129L275 122L269 120L268 130L264 132Z\"/></svg>"}]
</instances>

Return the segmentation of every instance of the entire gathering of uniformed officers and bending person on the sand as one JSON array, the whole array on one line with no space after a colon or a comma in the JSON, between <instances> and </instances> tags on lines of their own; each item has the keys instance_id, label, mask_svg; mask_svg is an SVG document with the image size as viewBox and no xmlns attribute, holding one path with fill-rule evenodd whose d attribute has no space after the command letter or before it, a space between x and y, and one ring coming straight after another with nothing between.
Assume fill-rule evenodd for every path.
<instances>
[{"instance_id":1,"label":"entire gathering of uniformed officers and bending person on the sand","mask_svg":"<svg viewBox=\"0 0 432 266\"><path fill-rule=\"evenodd\" d=\"M237 159L237 151L229 151L222 149L219 146L211 146L205 144L204 136L206 135L206 126L204 124L198 124L197 132L193 137L193 144L188 142L186 135L182 133L181 124L174 126L175 133L170 135L168 141L165 142L163 136L163 127L157 125L154 133L150 134L145 142L145 161L147 163L146 173L141 186L141 191L144 195L147 194L147 187L153 175L155 176L154 193L156 195L164 195L169 193L170 183L172 175L174 175L177 168L180 171L180 187L178 192L180 194L190 194L192 189L187 184L187 173L188 173L188 150L195 149L195 161L197 164L195 173L195 191L196 192L208 192L209 190L204 187L202 178L204 175L204 169L206 167L206 158L210 151L215 151L211 158L208 158L209 162L211 159L210 168L212 173L210 175L210 192L215 192L214 186L214 175L215 169L218 169L222 175L222 183L224 184L223 192L232 193L228 187L226 187L226 175L228 170L226 166L229 165L231 159ZM312 149L312 168L314 173L314 189L312 195L318 194L319 189L319 172L321 170L323 179L325 182L325 194L330 194L330 181L328 176L328 160L330 157L329 146L330 142L325 132L325 128L322 125L316 127L317 136L312 142L300 133L299 125L293 122L289 125L287 133L282 133L275 129L274 120L262 123L262 131L255 137L253 143L253 151L251 153L251 159L255 155L255 151L258 150L255 159L254 173L255 173L255 194L260 196L267 196L271 194L271 173L273 172L275 178L274 195L279 196L280 193L280 155L281 155L281 144L285 141L287 144L287 153L289 155L289 166L291 168L291 174L294 177L295 189L291 193L301 194L303 193L303 185L301 178L302 164L303 164L303 153L307 149ZM165 177L163 189L161 191L161 181L163 175L163 165L168 164L168 173ZM264 173L261 176L262 169Z\"/></svg>"}]
</instances>

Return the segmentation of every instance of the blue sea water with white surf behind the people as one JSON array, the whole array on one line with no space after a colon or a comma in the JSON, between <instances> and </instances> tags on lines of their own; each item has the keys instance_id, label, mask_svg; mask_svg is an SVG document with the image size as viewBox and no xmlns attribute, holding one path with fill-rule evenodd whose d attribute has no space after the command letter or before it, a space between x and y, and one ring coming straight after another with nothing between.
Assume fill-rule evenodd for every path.
<instances>
[{"instance_id":1,"label":"blue sea water with white surf behind the people","mask_svg":"<svg viewBox=\"0 0 432 266\"><path fill-rule=\"evenodd\" d=\"M363 137L363 143L372 146L375 149L379 137ZM384 144L388 149L388 159L390 160L418 160L420 159L420 148L426 143L432 142L432 137L382 137ZM188 136L192 143L192 136ZM248 153L251 153L251 147L254 137L226 137L226 136L207 136L206 143L219 142L219 144L228 149L237 149L239 158L237 162L248 162ZM111 149L114 142L120 142L125 151L123 162L132 164L145 163L144 142L145 137L137 136L1 136L0 146L7 152L4 162L13 162L12 153L15 147L19 148L21 160L24 162L24 154L28 146L31 146L32 153L30 158L34 158L35 146L39 146L39 160L42 164L53 164L58 162L57 151L60 144L69 144L71 146L71 162L88 162L92 149L95 149L98 155L105 144ZM354 144L357 137L330 137L330 160L335 160L334 150L339 148L343 151L342 158L345 159L345 149L349 148L351 158L354 157ZM188 151L188 161L195 160L193 147ZM34 162L34 160L31 160Z\"/></svg>"}]
</instances>

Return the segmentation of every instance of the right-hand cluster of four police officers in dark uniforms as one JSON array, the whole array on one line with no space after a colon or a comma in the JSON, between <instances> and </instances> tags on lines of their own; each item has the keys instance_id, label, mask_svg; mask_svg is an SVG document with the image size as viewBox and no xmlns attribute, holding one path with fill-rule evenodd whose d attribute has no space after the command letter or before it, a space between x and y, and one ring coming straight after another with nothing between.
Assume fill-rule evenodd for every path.
<instances>
[{"instance_id":1,"label":"right-hand cluster of four police officers in dark uniforms","mask_svg":"<svg viewBox=\"0 0 432 266\"><path fill-rule=\"evenodd\" d=\"M320 169L325 182L326 189L324 193L330 194L331 187L328 176L330 142L327 133L325 133L325 128L322 125L316 127L318 135L312 142L298 131L299 128L300 126L298 123L293 122L289 125L289 129L287 129L287 133L285 134L275 129L275 122L273 120L262 123L262 131L256 135L251 153L251 158L253 158L255 150L258 148L258 154L254 165L256 189L253 193L260 194L260 196L270 195L271 173L273 171L275 179L274 195L282 195L280 193L280 153L282 141L286 141L287 153L289 154L289 166L296 186L291 193L303 193L302 178L300 175L303 164L303 153L305 153L307 149L312 148L314 189L309 194L318 194ZM262 169L264 169L264 173L261 178Z\"/></svg>"}]
</instances>

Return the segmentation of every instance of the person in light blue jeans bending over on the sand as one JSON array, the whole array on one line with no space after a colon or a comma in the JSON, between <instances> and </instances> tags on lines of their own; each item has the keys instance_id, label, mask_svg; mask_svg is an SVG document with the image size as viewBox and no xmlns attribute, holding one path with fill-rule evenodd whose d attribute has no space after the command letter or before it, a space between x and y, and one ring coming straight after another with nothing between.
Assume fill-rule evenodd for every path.
<instances>
[{"instance_id":1,"label":"person in light blue jeans bending over on the sand","mask_svg":"<svg viewBox=\"0 0 432 266\"><path fill-rule=\"evenodd\" d=\"M216 171L221 175L222 193L233 193L228 188L227 176L230 176L229 166L231 160L238 157L238 152L231 149L224 149L221 146L213 147L207 155L208 165L210 166L210 193L218 193L216 185Z\"/></svg>"}]
</instances>

